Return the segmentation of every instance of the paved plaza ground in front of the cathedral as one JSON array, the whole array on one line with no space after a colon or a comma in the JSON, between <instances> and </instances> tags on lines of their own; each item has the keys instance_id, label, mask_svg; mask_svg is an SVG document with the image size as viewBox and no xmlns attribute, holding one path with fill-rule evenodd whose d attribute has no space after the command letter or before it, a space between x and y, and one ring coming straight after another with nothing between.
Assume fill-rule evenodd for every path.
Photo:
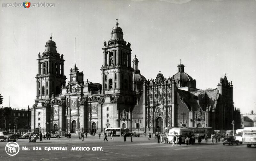
<instances>
[{"instance_id":1,"label":"paved plaza ground in front of the cathedral","mask_svg":"<svg viewBox=\"0 0 256 161\"><path fill-rule=\"evenodd\" d=\"M221 143L211 144L205 143L202 140L201 145L182 144L181 146L172 146L172 144L157 143L157 139L147 137L133 137L133 142L130 142L130 137L127 137L127 142L123 141L123 137L114 137L114 140L108 142L103 141L101 136L87 136L84 141L78 140L78 136L67 138L51 138L36 143L28 143L28 139L19 139L17 143L20 146L20 152L15 156L9 156L5 152L6 142L0 142L0 161L41 161L41 160L133 160L133 161L157 161L157 160L196 160L196 161L252 161L256 157L256 146L247 148L245 145L225 145ZM222 139L221 139L222 140ZM196 139L197 143L197 139ZM30 150L22 150L26 146ZM41 147L42 150L33 150L33 147ZM46 151L45 147L66 147L68 151ZM72 151L72 147L89 147L89 151ZM101 151L92 151L93 147L102 147ZM79 149L79 148L77 148ZM85 149L85 148L84 148Z\"/></svg>"}]
</instances>

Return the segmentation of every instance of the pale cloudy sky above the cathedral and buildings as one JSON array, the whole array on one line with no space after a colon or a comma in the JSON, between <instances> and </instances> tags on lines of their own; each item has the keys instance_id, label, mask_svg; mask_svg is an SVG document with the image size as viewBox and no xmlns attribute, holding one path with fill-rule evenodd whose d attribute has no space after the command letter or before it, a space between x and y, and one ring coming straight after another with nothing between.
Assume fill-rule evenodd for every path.
<instances>
[{"instance_id":1,"label":"pale cloudy sky above the cathedral and buildings","mask_svg":"<svg viewBox=\"0 0 256 161\"><path fill-rule=\"evenodd\" d=\"M101 83L103 42L111 38L118 18L133 59L147 79L177 73L182 59L185 73L198 89L217 88L225 74L233 83L234 107L254 110L255 0L132 0L31 1L54 7L3 7L0 0L1 106L32 107L36 99L38 52L45 50L50 33L57 52L64 55L64 74L76 65L84 80ZM29 1L30 2L30 1Z\"/></svg>"}]
</instances>

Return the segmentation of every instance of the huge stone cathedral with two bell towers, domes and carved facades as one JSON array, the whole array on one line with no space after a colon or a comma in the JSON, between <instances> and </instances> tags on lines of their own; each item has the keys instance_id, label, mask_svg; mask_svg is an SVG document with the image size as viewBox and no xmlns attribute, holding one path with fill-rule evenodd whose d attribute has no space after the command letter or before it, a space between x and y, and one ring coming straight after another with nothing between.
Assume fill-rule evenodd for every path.
<instances>
[{"instance_id":1,"label":"huge stone cathedral with two bell towers, domes and carved facades","mask_svg":"<svg viewBox=\"0 0 256 161\"><path fill-rule=\"evenodd\" d=\"M158 73L155 79L146 79L136 55L131 66L131 44L118 25L116 22L110 40L103 43L101 84L84 80L76 64L70 68L66 84L64 56L50 37L37 59L32 131L102 132L108 127L142 133L171 127L228 130L232 120L239 128L240 111L233 106L233 85L226 75L217 88L200 90L180 62L174 75L166 78Z\"/></svg>"}]
</instances>

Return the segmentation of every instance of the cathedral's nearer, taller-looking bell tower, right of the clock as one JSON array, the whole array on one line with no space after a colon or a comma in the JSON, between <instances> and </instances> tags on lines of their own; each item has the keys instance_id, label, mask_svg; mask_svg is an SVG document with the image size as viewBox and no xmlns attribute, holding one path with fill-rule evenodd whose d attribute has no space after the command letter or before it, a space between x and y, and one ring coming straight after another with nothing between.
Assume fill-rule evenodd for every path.
<instances>
[{"instance_id":1,"label":"cathedral's nearer, taller-looking bell tower, right of the clock","mask_svg":"<svg viewBox=\"0 0 256 161\"><path fill-rule=\"evenodd\" d=\"M116 26L112 28L111 39L104 41L103 65L101 67L102 91L104 94L132 92L131 44L124 41L123 31Z\"/></svg>"}]
</instances>

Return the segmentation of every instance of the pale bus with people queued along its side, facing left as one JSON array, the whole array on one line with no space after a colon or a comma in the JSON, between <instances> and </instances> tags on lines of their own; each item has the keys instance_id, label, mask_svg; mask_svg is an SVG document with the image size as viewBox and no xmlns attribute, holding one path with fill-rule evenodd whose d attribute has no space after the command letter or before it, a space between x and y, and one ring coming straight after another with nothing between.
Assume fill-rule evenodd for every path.
<instances>
[{"instance_id":1,"label":"pale bus with people queued along its side, facing left","mask_svg":"<svg viewBox=\"0 0 256 161\"><path fill-rule=\"evenodd\" d=\"M169 141L173 140L173 136L176 136L176 135L178 137L181 136L182 142L185 143L186 136L192 136L194 134L193 134L193 130L192 129L174 127L174 128L171 128L169 130L168 140Z\"/></svg>"}]
</instances>

